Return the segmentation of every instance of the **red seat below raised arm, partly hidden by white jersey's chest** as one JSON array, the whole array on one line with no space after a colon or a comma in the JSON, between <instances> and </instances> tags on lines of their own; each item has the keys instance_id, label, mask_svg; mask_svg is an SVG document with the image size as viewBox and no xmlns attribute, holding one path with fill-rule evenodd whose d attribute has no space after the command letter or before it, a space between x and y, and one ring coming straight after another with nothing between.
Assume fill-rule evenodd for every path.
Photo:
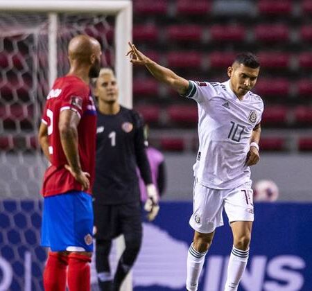
<instances>
[{"instance_id":1,"label":"red seat below raised arm, partly hidden by white jersey's chest","mask_svg":"<svg viewBox=\"0 0 312 291\"><path fill-rule=\"evenodd\" d=\"M196 105L171 105L166 110L169 121L182 125L195 125L198 122L198 109Z\"/></svg>"}]
</instances>

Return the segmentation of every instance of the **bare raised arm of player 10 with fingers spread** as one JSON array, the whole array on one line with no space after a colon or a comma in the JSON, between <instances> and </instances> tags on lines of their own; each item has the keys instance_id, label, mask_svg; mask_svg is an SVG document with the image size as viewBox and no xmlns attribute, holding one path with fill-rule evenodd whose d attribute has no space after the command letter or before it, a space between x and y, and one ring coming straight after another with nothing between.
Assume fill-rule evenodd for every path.
<instances>
[{"instance_id":1,"label":"bare raised arm of player 10 with fingers spread","mask_svg":"<svg viewBox=\"0 0 312 291\"><path fill-rule=\"evenodd\" d=\"M177 76L176 73L171 71L166 67L162 67L157 64L150 58L146 57L141 51L139 51L134 44L129 42L130 51L128 51L127 55L130 55L130 62L132 64L139 64L141 66L145 66L148 71L160 82L163 82L166 85L169 85L180 95L187 94L189 89L189 81Z\"/></svg>"}]
</instances>

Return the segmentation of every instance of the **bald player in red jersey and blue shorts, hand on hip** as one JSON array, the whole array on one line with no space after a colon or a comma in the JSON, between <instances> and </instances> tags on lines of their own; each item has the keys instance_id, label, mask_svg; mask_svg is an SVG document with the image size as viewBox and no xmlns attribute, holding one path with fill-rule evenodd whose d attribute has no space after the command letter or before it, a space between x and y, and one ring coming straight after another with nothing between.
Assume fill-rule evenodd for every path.
<instances>
[{"instance_id":1,"label":"bald player in red jersey and blue shorts, hand on hip","mask_svg":"<svg viewBox=\"0 0 312 291\"><path fill-rule=\"evenodd\" d=\"M42 245L50 247L44 290L90 290L96 109L89 88L101 68L101 46L87 35L69 42L69 73L55 80L39 130L44 155Z\"/></svg>"}]
</instances>

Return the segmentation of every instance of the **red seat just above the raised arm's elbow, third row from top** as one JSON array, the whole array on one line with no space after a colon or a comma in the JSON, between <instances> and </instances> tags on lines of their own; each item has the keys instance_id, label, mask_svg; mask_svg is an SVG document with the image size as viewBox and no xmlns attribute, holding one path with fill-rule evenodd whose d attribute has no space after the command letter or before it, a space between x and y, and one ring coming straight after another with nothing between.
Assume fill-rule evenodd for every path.
<instances>
[{"instance_id":1,"label":"red seat just above the raised arm's elbow, third row from top","mask_svg":"<svg viewBox=\"0 0 312 291\"><path fill-rule=\"evenodd\" d=\"M168 53L167 55L168 67L195 67L200 69L201 60L201 54L196 51L178 51Z\"/></svg>"}]
</instances>

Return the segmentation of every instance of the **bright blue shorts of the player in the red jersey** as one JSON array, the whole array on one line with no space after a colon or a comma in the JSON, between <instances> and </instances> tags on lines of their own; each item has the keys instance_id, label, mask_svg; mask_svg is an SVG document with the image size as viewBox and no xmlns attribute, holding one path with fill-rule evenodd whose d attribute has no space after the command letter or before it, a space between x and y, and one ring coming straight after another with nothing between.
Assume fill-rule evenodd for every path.
<instances>
[{"instance_id":1,"label":"bright blue shorts of the player in the red jersey","mask_svg":"<svg viewBox=\"0 0 312 291\"><path fill-rule=\"evenodd\" d=\"M92 252L92 229L92 195L70 191L44 198L43 247L52 252Z\"/></svg>"}]
</instances>

